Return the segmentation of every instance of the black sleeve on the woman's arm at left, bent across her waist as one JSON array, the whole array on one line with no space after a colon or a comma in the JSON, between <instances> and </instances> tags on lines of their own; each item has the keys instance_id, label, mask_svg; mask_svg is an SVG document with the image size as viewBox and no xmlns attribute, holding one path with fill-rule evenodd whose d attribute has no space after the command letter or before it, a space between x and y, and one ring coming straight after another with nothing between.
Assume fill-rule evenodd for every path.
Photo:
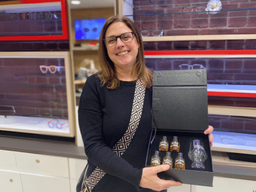
<instances>
[{"instance_id":1,"label":"black sleeve on the woman's arm at left, bent across her waist","mask_svg":"<svg viewBox=\"0 0 256 192\"><path fill-rule=\"evenodd\" d=\"M104 100L108 94L100 86L97 76L87 79L81 95L78 117L79 127L84 142L84 151L90 161L104 172L133 184L139 189L142 169L134 168L130 163L111 150L104 136ZM111 92L111 91L110 91Z\"/></svg>"}]
</instances>

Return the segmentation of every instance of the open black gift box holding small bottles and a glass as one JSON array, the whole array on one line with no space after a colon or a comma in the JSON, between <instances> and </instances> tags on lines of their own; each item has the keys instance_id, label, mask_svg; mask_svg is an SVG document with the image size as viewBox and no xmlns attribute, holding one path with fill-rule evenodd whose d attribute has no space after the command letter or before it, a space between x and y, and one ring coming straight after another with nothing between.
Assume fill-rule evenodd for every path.
<instances>
[{"instance_id":1,"label":"open black gift box holding small bottles and a glass","mask_svg":"<svg viewBox=\"0 0 256 192\"><path fill-rule=\"evenodd\" d=\"M167 136L169 149L173 136L180 142L180 152L185 159L185 170L174 168L178 152L172 152L173 168L161 172L161 179L176 180L184 184L212 186L213 170L208 127L206 69L154 71L152 100L152 134L148 145L146 166L159 150L162 136ZM190 142L201 140L207 159L204 169L191 168L188 157ZM165 152L159 151L161 164Z\"/></svg>"}]
</instances>

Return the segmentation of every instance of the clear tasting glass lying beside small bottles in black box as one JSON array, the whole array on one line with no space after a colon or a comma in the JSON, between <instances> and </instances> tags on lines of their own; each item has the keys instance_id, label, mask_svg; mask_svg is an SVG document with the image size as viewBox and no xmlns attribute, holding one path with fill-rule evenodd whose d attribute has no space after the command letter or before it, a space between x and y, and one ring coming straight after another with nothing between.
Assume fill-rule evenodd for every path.
<instances>
[{"instance_id":1,"label":"clear tasting glass lying beside small bottles in black box","mask_svg":"<svg viewBox=\"0 0 256 192\"><path fill-rule=\"evenodd\" d=\"M205 168L204 161L207 159L207 154L204 150L202 141L193 140L190 142L188 157L193 161L191 164L192 168Z\"/></svg>"}]
</instances>

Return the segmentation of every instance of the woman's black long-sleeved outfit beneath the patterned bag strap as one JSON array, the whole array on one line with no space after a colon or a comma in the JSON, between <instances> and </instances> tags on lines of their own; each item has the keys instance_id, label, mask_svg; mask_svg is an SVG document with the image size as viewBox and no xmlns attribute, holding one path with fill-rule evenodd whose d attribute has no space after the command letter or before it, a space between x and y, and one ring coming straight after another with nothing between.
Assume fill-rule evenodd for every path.
<instances>
[{"instance_id":1,"label":"woman's black long-sleeved outfit beneath the patterned bag strap","mask_svg":"<svg viewBox=\"0 0 256 192\"><path fill-rule=\"evenodd\" d=\"M100 86L96 74L84 85L78 116L88 157L87 177L96 166L106 172L93 192L152 191L139 186L152 129L152 88L145 92L140 124L129 147L121 157L111 150L129 125L135 86L132 81L121 81L118 89L108 90Z\"/></svg>"}]
</instances>

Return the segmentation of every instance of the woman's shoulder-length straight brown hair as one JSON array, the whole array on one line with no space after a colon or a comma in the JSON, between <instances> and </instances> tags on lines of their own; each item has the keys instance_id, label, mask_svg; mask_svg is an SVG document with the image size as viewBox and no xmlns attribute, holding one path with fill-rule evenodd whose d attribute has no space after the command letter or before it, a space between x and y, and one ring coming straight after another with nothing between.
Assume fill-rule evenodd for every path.
<instances>
[{"instance_id":1,"label":"woman's shoulder-length straight brown hair","mask_svg":"<svg viewBox=\"0 0 256 192\"><path fill-rule=\"evenodd\" d=\"M132 20L125 16L119 17L118 15L109 17L109 19L105 22L100 33L99 58L101 71L98 72L98 76L100 78L102 86L104 84L107 84L107 88L110 90L116 89L120 86L120 80L116 76L115 65L108 56L108 51L103 40L105 38L108 27L114 22L124 22L124 24L134 32L134 36L136 36L136 40L140 47L138 50L136 62L134 64L134 67L132 68L132 74L137 74L141 81L143 81L145 88L150 88L152 86L153 81L152 70L148 69L145 66L144 46L140 35L140 31L135 26L134 22L132 22Z\"/></svg>"}]
</instances>

